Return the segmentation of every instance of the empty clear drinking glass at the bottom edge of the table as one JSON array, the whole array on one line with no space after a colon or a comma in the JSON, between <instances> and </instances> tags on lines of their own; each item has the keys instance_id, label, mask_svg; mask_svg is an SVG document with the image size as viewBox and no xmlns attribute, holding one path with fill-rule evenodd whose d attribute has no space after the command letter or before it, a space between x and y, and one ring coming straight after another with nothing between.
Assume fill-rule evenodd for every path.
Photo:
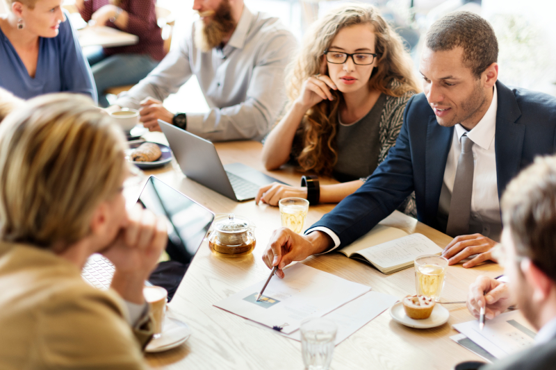
<instances>
[{"instance_id":1,"label":"empty clear drinking glass at the bottom edge of the table","mask_svg":"<svg viewBox=\"0 0 556 370\"><path fill-rule=\"evenodd\" d=\"M328 319L306 319L301 323L301 353L306 370L327 370L334 354L338 327Z\"/></svg>"}]
</instances>

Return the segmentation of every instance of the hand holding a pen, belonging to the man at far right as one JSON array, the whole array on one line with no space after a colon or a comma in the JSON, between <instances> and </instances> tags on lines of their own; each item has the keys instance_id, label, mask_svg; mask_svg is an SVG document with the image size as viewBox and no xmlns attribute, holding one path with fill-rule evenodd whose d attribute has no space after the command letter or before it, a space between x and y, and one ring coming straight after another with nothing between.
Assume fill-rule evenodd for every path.
<instances>
[{"instance_id":1,"label":"hand holding a pen, belonging to the man at far right","mask_svg":"<svg viewBox=\"0 0 556 370\"><path fill-rule=\"evenodd\" d=\"M480 319L481 311L484 312L484 318L494 319L512 304L507 284L496 279L479 276L469 286L467 308L477 319Z\"/></svg>"}]
</instances>

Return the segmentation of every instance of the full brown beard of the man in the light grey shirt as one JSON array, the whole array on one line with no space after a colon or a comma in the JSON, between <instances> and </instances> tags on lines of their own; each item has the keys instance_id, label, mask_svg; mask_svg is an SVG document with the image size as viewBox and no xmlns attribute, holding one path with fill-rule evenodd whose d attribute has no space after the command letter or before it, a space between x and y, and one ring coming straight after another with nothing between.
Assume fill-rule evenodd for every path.
<instances>
[{"instance_id":1,"label":"full brown beard of the man in the light grey shirt","mask_svg":"<svg viewBox=\"0 0 556 370\"><path fill-rule=\"evenodd\" d=\"M225 37L234 31L236 22L231 17L229 0L222 0L212 19L205 24L203 19L195 23L195 46L204 53L220 46Z\"/></svg>"}]
</instances>

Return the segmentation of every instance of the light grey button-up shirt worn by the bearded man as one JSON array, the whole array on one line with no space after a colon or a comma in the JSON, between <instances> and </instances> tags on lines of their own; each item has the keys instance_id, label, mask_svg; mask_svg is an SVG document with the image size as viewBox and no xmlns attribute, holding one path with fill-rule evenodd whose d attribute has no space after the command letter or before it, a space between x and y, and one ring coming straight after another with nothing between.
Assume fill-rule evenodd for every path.
<instances>
[{"instance_id":1,"label":"light grey button-up shirt worn by the bearded man","mask_svg":"<svg viewBox=\"0 0 556 370\"><path fill-rule=\"evenodd\" d=\"M247 6L222 49L203 53L194 33L195 25L116 105L137 109L147 96L163 101L195 74L210 110L185 112L187 130L211 141L261 140L286 103L284 69L297 51L295 37L278 18Z\"/></svg>"}]
</instances>

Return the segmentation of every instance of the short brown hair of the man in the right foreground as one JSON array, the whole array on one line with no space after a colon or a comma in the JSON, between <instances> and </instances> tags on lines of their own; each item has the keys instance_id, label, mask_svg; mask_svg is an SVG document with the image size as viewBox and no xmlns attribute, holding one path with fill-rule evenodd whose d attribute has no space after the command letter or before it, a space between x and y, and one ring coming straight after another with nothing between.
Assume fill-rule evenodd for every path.
<instances>
[{"instance_id":1,"label":"short brown hair of the man in the right foreground","mask_svg":"<svg viewBox=\"0 0 556 370\"><path fill-rule=\"evenodd\" d=\"M516 253L556 282L556 156L538 157L502 196L502 221Z\"/></svg>"}]
</instances>

